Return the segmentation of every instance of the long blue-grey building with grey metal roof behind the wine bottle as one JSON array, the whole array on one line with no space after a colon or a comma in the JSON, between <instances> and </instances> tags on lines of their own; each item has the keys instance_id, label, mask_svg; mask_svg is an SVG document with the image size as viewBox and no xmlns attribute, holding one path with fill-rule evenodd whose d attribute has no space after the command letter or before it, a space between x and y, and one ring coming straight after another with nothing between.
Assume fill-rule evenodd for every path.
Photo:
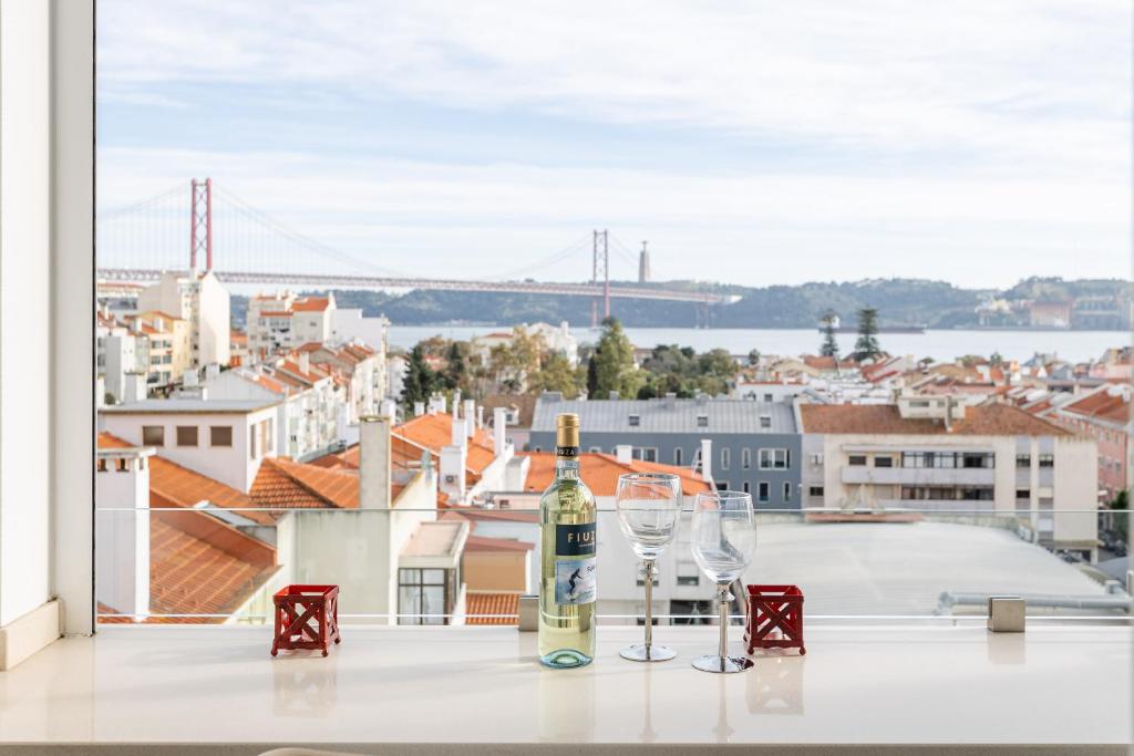
<instances>
[{"instance_id":1,"label":"long blue-grey building with grey metal roof behind the wine bottle","mask_svg":"<svg viewBox=\"0 0 1134 756\"><path fill-rule=\"evenodd\" d=\"M799 433L792 404L741 399L564 400L545 393L535 404L528 449L550 451L556 415L579 416L583 451L693 467L701 441L712 442L709 469L720 489L747 491L760 509L798 509L803 500Z\"/></svg>"}]
</instances>

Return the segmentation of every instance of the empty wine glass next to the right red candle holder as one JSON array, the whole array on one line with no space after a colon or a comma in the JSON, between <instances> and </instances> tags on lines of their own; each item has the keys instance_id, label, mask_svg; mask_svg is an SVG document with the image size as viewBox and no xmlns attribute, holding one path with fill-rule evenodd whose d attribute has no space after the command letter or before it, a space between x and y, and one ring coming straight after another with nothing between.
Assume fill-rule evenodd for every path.
<instances>
[{"instance_id":1,"label":"empty wine glass next to the right red candle holder","mask_svg":"<svg viewBox=\"0 0 1134 756\"><path fill-rule=\"evenodd\" d=\"M752 496L739 491L699 493L693 504L693 559L717 584L720 604L720 646L716 656L697 656L693 666L703 672L743 672L746 656L728 655L728 586L741 577L756 550L756 520Z\"/></svg>"}]
</instances>

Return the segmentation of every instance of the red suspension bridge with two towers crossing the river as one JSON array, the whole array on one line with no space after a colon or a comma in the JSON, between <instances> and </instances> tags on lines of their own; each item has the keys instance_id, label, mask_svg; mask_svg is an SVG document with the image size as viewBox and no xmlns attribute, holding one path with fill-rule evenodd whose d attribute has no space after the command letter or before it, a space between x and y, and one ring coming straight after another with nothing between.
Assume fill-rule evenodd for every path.
<instances>
[{"instance_id":1,"label":"red suspension bridge with two towers crossing the river","mask_svg":"<svg viewBox=\"0 0 1134 756\"><path fill-rule=\"evenodd\" d=\"M164 271L206 270L230 284L314 289L424 289L590 297L592 320L611 314L612 299L692 303L699 320L708 307L735 297L695 290L612 283L611 258L648 271L645 249L635 255L606 230L499 275L481 280L433 278L384 267L332 248L214 185L193 179L141 202L101 212L96 223L98 279L104 291L158 280ZM188 253L188 254L186 254ZM587 254L589 253L589 254ZM590 281L540 282L552 266L590 262ZM581 277L585 280L584 277Z\"/></svg>"}]
</instances>

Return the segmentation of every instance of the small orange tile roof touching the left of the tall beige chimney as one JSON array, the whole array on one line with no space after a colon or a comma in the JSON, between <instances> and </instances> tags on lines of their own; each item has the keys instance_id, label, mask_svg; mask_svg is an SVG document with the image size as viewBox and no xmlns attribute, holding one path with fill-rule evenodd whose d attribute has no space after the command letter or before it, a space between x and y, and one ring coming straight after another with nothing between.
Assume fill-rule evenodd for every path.
<instances>
[{"instance_id":1,"label":"small orange tile roof touching the left of the tall beige chimney","mask_svg":"<svg viewBox=\"0 0 1134 756\"><path fill-rule=\"evenodd\" d=\"M268 457L260 464L251 494L262 507L357 509L358 475Z\"/></svg>"}]
</instances>

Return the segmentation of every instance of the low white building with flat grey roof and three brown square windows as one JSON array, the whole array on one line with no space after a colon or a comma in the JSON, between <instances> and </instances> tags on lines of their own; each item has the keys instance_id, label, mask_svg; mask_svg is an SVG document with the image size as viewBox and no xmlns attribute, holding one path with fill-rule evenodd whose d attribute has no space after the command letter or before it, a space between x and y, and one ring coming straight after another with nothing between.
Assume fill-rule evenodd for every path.
<instances>
[{"instance_id":1,"label":"low white building with flat grey roof and three brown square windows","mask_svg":"<svg viewBox=\"0 0 1134 756\"><path fill-rule=\"evenodd\" d=\"M278 401L145 399L103 407L100 430L247 493L274 457Z\"/></svg>"}]
</instances>

